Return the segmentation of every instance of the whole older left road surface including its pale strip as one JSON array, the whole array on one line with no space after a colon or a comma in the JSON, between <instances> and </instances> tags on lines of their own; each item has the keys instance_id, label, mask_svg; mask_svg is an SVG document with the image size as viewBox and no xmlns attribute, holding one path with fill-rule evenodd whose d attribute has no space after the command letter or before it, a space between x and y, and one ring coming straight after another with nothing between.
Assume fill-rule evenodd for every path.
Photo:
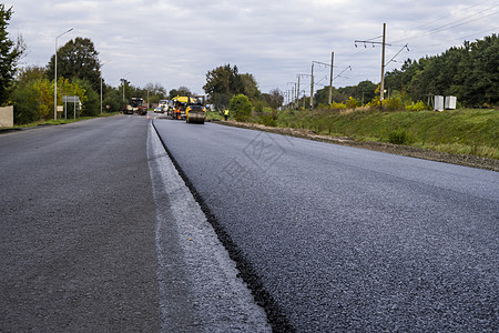
<instances>
[{"instance_id":1,"label":"whole older left road surface including its pale strip","mask_svg":"<svg viewBox=\"0 0 499 333\"><path fill-rule=\"evenodd\" d=\"M151 121L0 135L0 332L268 332Z\"/></svg>"}]
</instances>

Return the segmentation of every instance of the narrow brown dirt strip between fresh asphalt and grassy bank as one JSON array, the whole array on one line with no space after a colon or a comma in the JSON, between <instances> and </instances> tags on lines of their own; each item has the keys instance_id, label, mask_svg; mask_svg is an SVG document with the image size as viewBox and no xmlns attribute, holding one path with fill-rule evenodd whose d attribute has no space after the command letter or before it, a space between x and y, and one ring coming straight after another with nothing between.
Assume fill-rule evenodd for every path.
<instances>
[{"instance_id":1,"label":"narrow brown dirt strip between fresh asphalt and grassy bank","mask_svg":"<svg viewBox=\"0 0 499 333\"><path fill-rule=\"evenodd\" d=\"M421 149L421 148L416 148L416 147L398 145L398 144L391 144L391 143L385 143L385 142L376 142L376 141L360 142L360 141L355 141L354 139L347 138L347 137L318 135L317 133L315 133L310 130L305 130L305 129L272 128L272 127L265 127L262 124L243 123L243 122L236 122L236 121L216 121L216 122L225 124L225 125L231 125L231 127L265 131L265 132L291 135L291 137L303 138L303 139L309 139L309 140L315 140L315 141L329 142L329 143L335 143L335 144L357 147L357 148L383 151L383 152L404 155L404 157L410 157L410 158L425 159L425 160L430 160L430 161L438 161L438 162L452 163L452 164L459 164L459 165L471 167L471 168L480 168L480 169L486 169L486 170L499 171L499 160L480 158L480 157L476 157L476 155L449 154L449 153L445 153L445 152L427 150L427 149Z\"/></svg>"}]
</instances>

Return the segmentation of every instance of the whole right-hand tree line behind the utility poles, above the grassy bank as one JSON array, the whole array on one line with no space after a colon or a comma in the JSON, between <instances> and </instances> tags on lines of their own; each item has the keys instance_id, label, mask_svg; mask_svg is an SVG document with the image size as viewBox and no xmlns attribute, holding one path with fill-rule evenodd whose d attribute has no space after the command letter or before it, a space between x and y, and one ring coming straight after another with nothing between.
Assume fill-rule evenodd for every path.
<instances>
[{"instance_id":1,"label":"whole right-hand tree line behind the utility poles, above the grassy bank","mask_svg":"<svg viewBox=\"0 0 499 333\"><path fill-rule=\"evenodd\" d=\"M432 95L455 95L468 108L493 107L499 103L499 38L485 37L465 41L439 56L407 59L400 69L385 75L386 102L398 109L419 102L429 104ZM315 94L315 107L327 105L329 87ZM333 101L379 105L379 84L363 81L357 85L333 88ZM363 101L363 102L360 102Z\"/></svg>"}]
</instances>

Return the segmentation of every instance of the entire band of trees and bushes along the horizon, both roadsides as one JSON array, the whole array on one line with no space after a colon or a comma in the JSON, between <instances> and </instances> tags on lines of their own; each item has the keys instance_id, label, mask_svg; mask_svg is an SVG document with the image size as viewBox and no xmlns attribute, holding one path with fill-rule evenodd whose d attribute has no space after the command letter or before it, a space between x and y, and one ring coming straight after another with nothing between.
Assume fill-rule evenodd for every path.
<instances>
[{"instance_id":1,"label":"entire band of trees and bushes along the horizon, both roadsides","mask_svg":"<svg viewBox=\"0 0 499 333\"><path fill-rule=\"evenodd\" d=\"M14 122L30 123L53 118L54 110L54 63L53 54L45 67L18 69L18 62L26 52L22 37L12 41L8 33L8 22L12 8L0 4L0 105L14 105ZM111 87L102 79L99 52L88 38L78 37L67 42L58 52L58 101L63 95L78 95L82 102L78 115L98 115L101 111L100 95L103 95L104 111L119 111L130 97L149 97L151 103L176 95L192 95L186 87L169 92L159 83L134 87L122 80L119 87ZM101 91L102 82L102 91ZM491 107L499 99L499 38L485 37L475 42L466 41L461 47L451 48L435 57L419 60L407 59L400 69L386 73L385 88L388 99L384 105L404 109L408 105L427 108L429 95L456 95L465 107ZM231 107L244 100L245 110L262 114L265 109L283 107L284 94L278 88L268 93L261 92L256 79L251 73L240 73L237 65L223 64L206 72L203 90L207 101L216 110ZM379 105L379 84L361 81L356 85L333 88L333 105L328 103L329 87L314 94L314 108L356 108ZM245 99L242 98L245 97ZM247 102L246 102L247 99ZM298 107L307 109L309 97L302 97ZM286 107L286 105L284 105ZM287 107L295 107L289 104ZM338 108L339 108L338 107ZM108 109L109 108L109 109ZM416 109L414 109L416 110Z\"/></svg>"}]
</instances>

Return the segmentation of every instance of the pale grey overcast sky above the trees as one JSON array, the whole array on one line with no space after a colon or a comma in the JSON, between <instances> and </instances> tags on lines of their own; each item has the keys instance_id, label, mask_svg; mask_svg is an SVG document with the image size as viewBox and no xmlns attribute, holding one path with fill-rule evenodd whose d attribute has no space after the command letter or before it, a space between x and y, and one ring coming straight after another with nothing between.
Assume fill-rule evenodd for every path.
<instances>
[{"instance_id":1,"label":"pale grey overcast sky above the trees","mask_svg":"<svg viewBox=\"0 0 499 333\"><path fill-rule=\"evenodd\" d=\"M405 59L436 56L462 41L499 32L499 0L16 0L11 38L22 34L22 65L44 67L59 47L89 38L100 53L104 80L125 77L133 85L185 85L204 93L206 72L236 64L262 92L291 90L313 61L330 63L334 87L379 82L383 23L387 70ZM357 44L357 47L356 47ZM404 46L408 44L408 49ZM314 65L317 88L329 68ZM306 82L304 84L304 81ZM309 93L309 77L301 90Z\"/></svg>"}]
</instances>

